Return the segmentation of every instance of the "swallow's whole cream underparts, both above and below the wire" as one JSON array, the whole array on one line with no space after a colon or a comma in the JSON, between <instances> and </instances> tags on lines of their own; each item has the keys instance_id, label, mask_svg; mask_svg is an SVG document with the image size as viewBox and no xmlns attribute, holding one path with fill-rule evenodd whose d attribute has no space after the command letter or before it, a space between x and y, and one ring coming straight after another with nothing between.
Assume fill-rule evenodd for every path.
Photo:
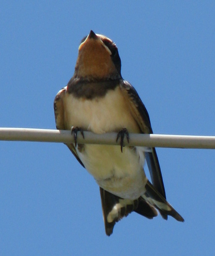
<instances>
[{"instance_id":1,"label":"swallow's whole cream underparts, both above and below the wire","mask_svg":"<svg viewBox=\"0 0 215 256\"><path fill-rule=\"evenodd\" d=\"M65 123L94 133L118 132L126 128L138 133L139 128L132 117L120 88L107 92L103 98L86 100L65 97ZM143 170L144 148L112 145L84 145L77 154L86 170L99 186L123 198L135 199L145 192L147 178Z\"/></svg>"}]
</instances>

